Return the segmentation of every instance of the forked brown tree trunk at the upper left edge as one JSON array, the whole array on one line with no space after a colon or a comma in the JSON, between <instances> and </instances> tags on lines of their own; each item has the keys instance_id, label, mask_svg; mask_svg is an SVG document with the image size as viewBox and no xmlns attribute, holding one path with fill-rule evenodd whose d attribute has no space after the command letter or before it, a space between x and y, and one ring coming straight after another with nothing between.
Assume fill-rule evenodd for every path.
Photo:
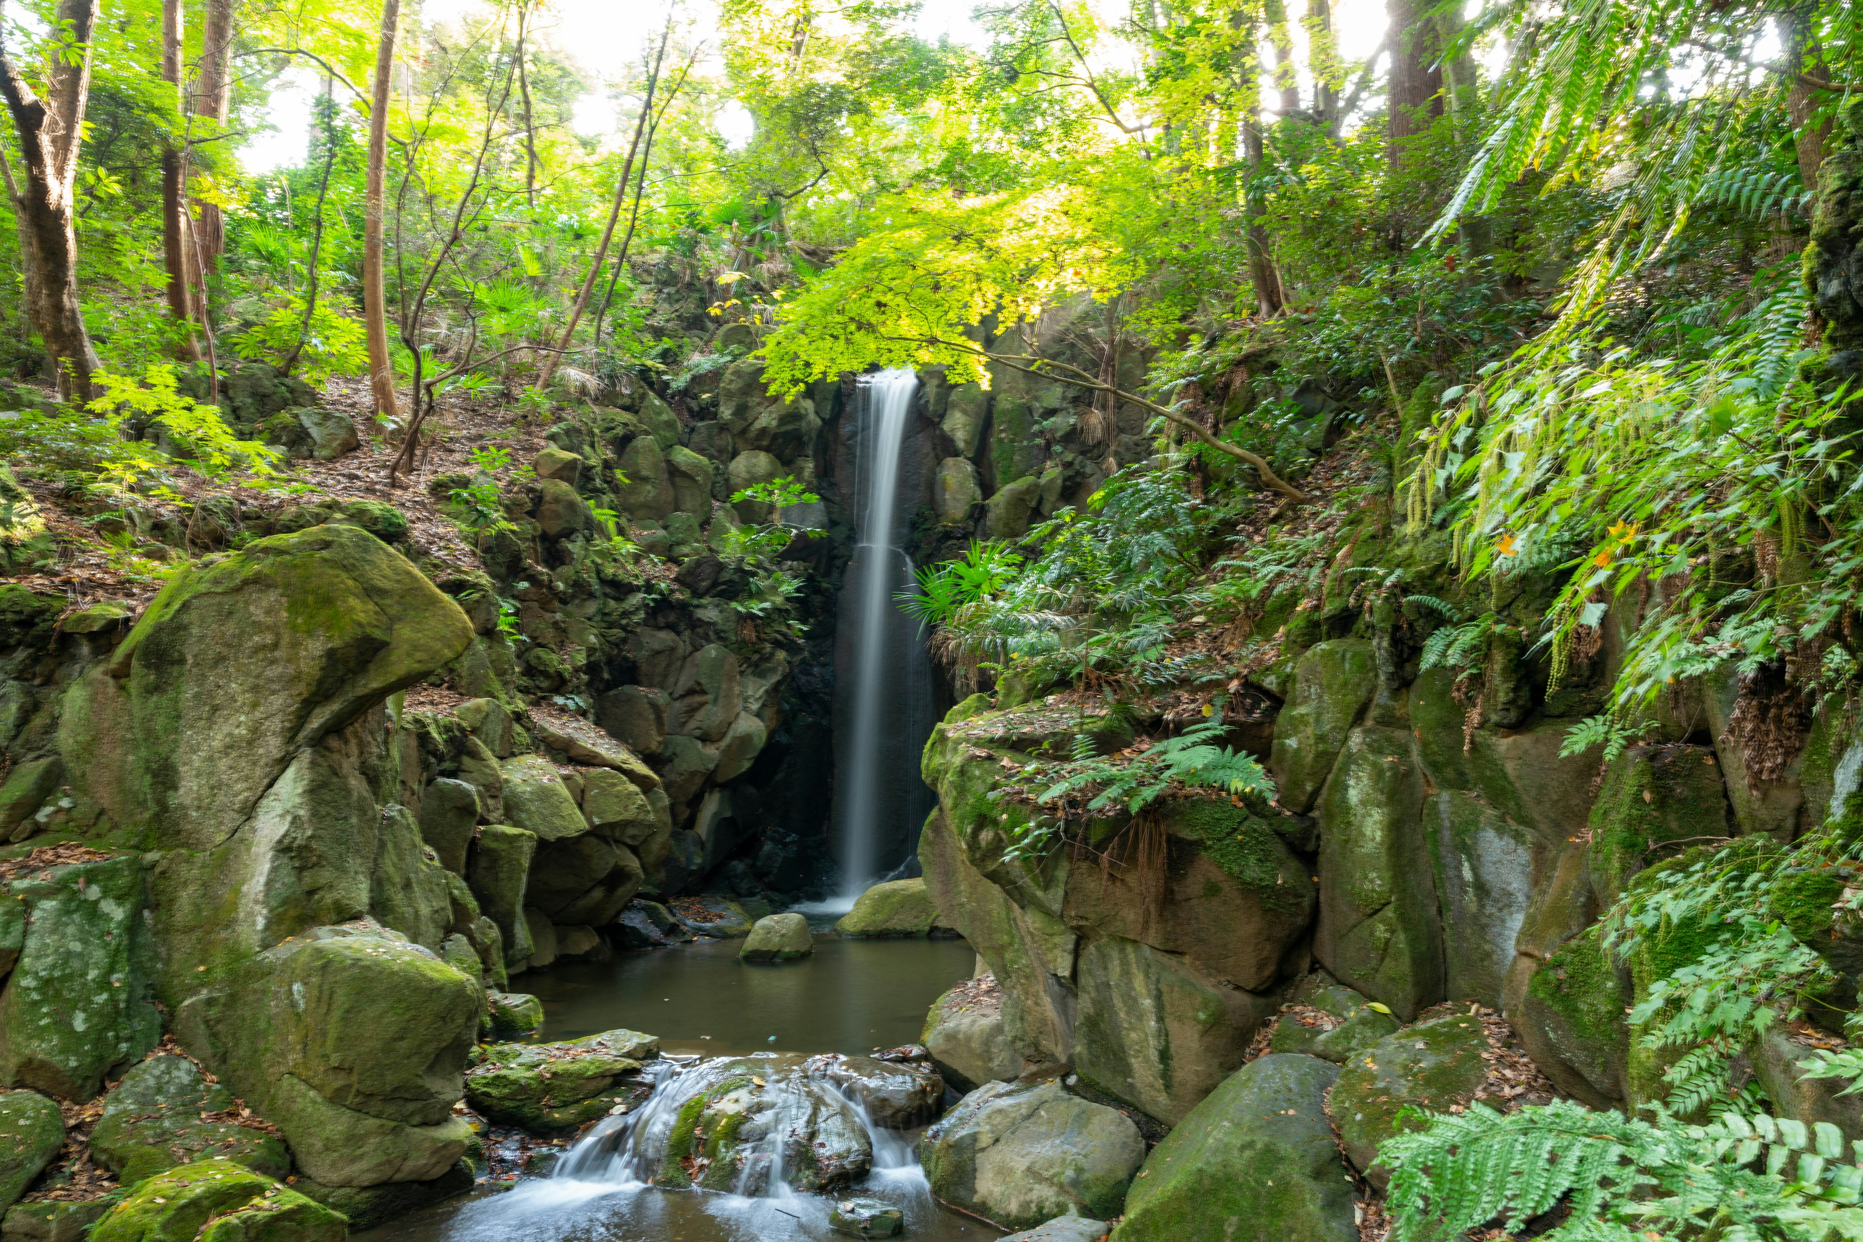
<instances>
[{"instance_id":1,"label":"forked brown tree trunk at the upper left edge","mask_svg":"<svg viewBox=\"0 0 1863 1242\"><path fill-rule=\"evenodd\" d=\"M76 56L50 58L45 97L20 76L13 58L0 48L0 95L19 130L26 162L20 216L26 225L32 277L28 315L58 365L58 393L71 400L91 398L97 352L78 307L78 233L73 197L78 179L78 142L84 136L84 104L91 93L91 30L99 0L58 0L54 30L63 26Z\"/></svg>"}]
</instances>

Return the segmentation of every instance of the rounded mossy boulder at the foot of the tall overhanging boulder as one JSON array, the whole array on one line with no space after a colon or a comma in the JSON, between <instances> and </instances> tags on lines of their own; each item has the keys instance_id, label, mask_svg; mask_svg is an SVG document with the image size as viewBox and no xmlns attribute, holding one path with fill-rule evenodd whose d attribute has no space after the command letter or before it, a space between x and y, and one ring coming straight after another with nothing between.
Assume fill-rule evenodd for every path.
<instances>
[{"instance_id":1,"label":"rounded mossy boulder at the foot of the tall overhanging boulder","mask_svg":"<svg viewBox=\"0 0 1863 1242\"><path fill-rule=\"evenodd\" d=\"M188 1000L177 1030L330 1186L428 1181L466 1151L453 1115L477 979L376 924L319 927Z\"/></svg>"}]
</instances>

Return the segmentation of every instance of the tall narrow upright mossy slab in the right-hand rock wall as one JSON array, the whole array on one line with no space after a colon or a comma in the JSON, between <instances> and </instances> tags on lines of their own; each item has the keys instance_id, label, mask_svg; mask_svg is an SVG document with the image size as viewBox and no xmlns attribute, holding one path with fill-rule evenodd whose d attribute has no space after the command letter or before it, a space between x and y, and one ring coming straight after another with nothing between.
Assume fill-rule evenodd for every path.
<instances>
[{"instance_id":1,"label":"tall narrow upright mossy slab in the right-hand rock wall","mask_svg":"<svg viewBox=\"0 0 1863 1242\"><path fill-rule=\"evenodd\" d=\"M1442 1000L1444 987L1442 912L1421 812L1423 771L1410 734L1353 730L1317 810L1313 957L1407 1020Z\"/></svg>"}]
</instances>

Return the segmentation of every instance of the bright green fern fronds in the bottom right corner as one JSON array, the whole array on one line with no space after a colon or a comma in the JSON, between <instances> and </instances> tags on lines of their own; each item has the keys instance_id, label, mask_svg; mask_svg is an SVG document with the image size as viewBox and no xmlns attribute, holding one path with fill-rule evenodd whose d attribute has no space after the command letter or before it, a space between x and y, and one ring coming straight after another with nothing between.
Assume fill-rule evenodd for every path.
<instances>
[{"instance_id":1,"label":"bright green fern fronds in the bottom right corner","mask_svg":"<svg viewBox=\"0 0 1863 1242\"><path fill-rule=\"evenodd\" d=\"M1863 1238L1863 1149L1837 1127L1727 1112L1682 1125L1571 1100L1498 1114L1418 1114L1379 1147L1392 1169L1392 1242L1451 1242L1500 1220L1511 1233L1565 1203L1552 1242L1829 1242ZM1848 1156L1848 1158L1846 1158Z\"/></svg>"}]
</instances>

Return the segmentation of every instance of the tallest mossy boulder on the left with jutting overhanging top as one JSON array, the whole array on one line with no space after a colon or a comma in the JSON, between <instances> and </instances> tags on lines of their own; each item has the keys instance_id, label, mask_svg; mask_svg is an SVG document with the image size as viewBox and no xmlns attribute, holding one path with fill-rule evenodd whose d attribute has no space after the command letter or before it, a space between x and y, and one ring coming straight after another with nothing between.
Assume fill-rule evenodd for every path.
<instances>
[{"instance_id":1,"label":"tallest mossy boulder on the left with jutting overhanging top","mask_svg":"<svg viewBox=\"0 0 1863 1242\"><path fill-rule=\"evenodd\" d=\"M285 937L371 912L380 704L471 635L399 553L320 525L183 568L73 685L60 750L75 786L162 851L171 1009Z\"/></svg>"}]
</instances>

